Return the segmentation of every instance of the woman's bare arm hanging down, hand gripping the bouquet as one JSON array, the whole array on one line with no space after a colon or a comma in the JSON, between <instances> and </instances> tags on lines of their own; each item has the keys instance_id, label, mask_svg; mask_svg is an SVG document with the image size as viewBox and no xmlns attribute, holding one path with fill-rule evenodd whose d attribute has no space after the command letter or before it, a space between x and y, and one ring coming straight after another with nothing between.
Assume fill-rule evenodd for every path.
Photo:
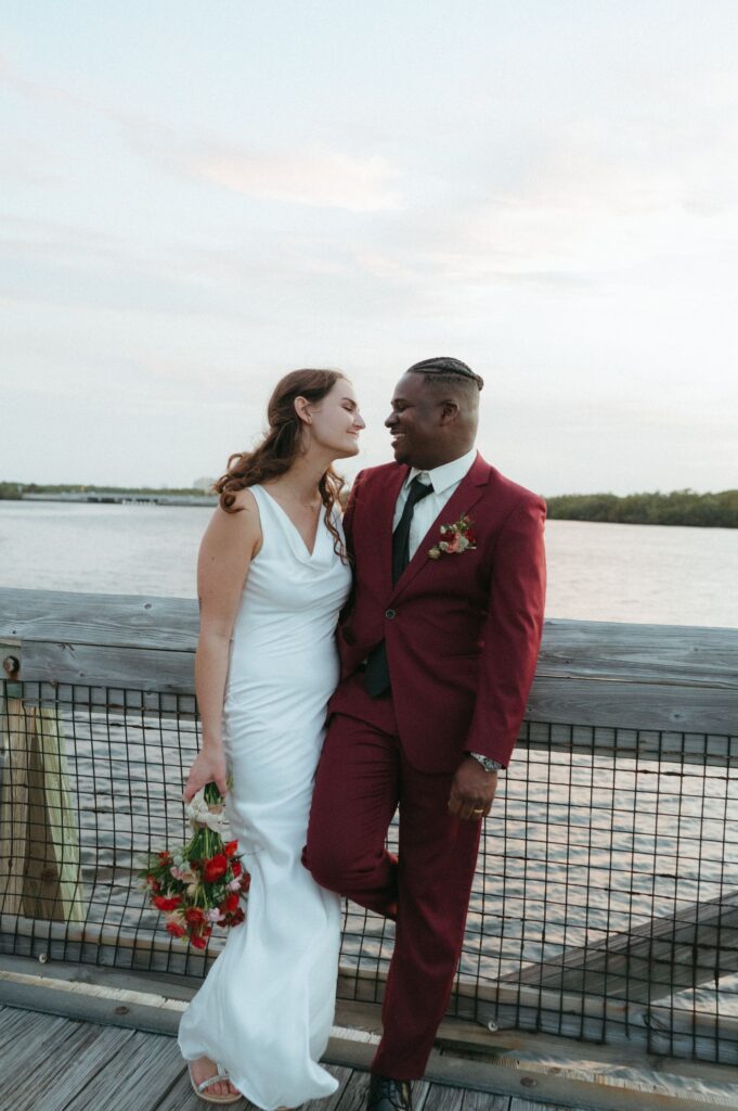
<instances>
[{"instance_id":1,"label":"woman's bare arm hanging down, hand gripping the bouquet","mask_svg":"<svg viewBox=\"0 0 738 1111\"><path fill-rule=\"evenodd\" d=\"M184 787L185 802L211 781L216 783L221 794L226 790L222 723L229 649L249 565L261 547L261 524L253 493L240 491L236 506L243 507L243 511L226 513L220 507L215 510L200 546L200 637L194 679L202 748Z\"/></svg>"}]
</instances>

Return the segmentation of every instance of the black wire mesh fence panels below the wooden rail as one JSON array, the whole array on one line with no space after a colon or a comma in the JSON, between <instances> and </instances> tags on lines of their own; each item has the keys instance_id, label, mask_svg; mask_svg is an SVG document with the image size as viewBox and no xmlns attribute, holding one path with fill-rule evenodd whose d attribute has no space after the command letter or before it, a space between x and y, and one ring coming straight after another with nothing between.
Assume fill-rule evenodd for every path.
<instances>
[{"instance_id":1,"label":"black wire mesh fence panels below the wooden rail","mask_svg":"<svg viewBox=\"0 0 738 1111\"><path fill-rule=\"evenodd\" d=\"M138 871L189 837L191 695L8 683L0 952L202 977ZM738 1061L738 739L527 722L482 839L452 1014ZM397 847L397 831L390 831ZM347 904L343 998L392 923Z\"/></svg>"}]
</instances>

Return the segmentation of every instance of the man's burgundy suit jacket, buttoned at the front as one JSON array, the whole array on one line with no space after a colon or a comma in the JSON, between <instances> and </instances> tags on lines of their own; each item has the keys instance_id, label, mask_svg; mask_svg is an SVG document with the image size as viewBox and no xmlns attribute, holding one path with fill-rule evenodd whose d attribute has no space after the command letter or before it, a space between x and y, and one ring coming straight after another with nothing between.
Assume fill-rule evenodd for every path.
<instances>
[{"instance_id":1,"label":"man's burgundy suit jacket, buttoned at the front","mask_svg":"<svg viewBox=\"0 0 738 1111\"><path fill-rule=\"evenodd\" d=\"M507 765L533 682L544 615L545 502L477 454L395 585L392 524L408 469L362 471L344 529L354 592L338 625L342 682L331 711L363 717L355 672L386 642L405 755L454 771L465 751ZM441 526L467 514L476 547L432 559Z\"/></svg>"}]
</instances>

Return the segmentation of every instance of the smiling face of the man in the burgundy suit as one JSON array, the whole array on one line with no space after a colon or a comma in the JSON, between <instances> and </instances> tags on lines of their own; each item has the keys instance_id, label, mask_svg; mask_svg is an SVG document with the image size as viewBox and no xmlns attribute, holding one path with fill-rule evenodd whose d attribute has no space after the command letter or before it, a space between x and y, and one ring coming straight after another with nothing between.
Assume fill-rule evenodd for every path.
<instances>
[{"instance_id":1,"label":"smiling face of the man in the burgundy suit","mask_svg":"<svg viewBox=\"0 0 738 1111\"><path fill-rule=\"evenodd\" d=\"M432 470L445 462L442 411L443 403L422 374L404 374L400 379L392 398L392 412L384 422L392 432L398 463Z\"/></svg>"}]
</instances>

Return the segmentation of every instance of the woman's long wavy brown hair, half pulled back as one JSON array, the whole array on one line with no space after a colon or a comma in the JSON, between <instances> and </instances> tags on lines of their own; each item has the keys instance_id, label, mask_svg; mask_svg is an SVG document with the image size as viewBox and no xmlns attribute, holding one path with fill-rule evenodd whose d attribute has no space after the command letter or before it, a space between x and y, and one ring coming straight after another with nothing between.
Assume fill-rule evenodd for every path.
<instances>
[{"instance_id":1,"label":"woman's long wavy brown hair, half pulled back","mask_svg":"<svg viewBox=\"0 0 738 1111\"><path fill-rule=\"evenodd\" d=\"M295 411L295 399L305 398L316 404L345 378L337 370L293 370L282 378L266 408L269 429L253 451L236 451L228 461L225 474L213 482L220 494L220 506L226 513L237 513L235 494L246 487L267 482L285 474L302 451L302 421ZM344 480L332 467L317 483L325 507L325 524L333 537L333 547L344 562L346 551L333 520L333 507L340 503ZM234 508L235 507L235 508Z\"/></svg>"}]
</instances>

